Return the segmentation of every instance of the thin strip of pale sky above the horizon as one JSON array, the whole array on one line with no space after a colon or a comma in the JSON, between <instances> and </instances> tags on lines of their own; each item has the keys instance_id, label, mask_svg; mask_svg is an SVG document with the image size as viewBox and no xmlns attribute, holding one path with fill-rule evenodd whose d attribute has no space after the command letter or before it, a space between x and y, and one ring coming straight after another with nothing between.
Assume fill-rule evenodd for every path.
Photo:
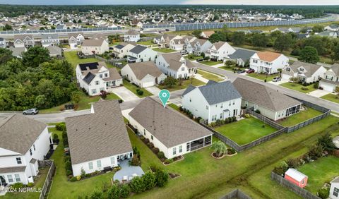
<instances>
[{"instance_id":1,"label":"thin strip of pale sky above the horizon","mask_svg":"<svg viewBox=\"0 0 339 199\"><path fill-rule=\"evenodd\" d=\"M0 0L0 4L247 4L247 5L339 5L339 0Z\"/></svg>"}]
</instances>

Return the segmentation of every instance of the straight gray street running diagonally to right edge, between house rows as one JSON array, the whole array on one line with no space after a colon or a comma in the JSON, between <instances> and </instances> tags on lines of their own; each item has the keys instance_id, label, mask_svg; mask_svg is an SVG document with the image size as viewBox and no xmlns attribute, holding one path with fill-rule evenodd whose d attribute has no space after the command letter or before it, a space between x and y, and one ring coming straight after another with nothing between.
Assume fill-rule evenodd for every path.
<instances>
[{"instance_id":1,"label":"straight gray street running diagonally to right edge, between house rows","mask_svg":"<svg viewBox=\"0 0 339 199\"><path fill-rule=\"evenodd\" d=\"M212 73L219 73L219 74L222 74L224 76L227 76L231 81L235 80L238 77L245 78L247 80L251 80L252 82L266 85L269 88L273 88L274 90L278 90L278 92L282 92L282 93L284 93L286 95L297 97L297 98L299 98L301 100L305 100L305 101L308 101L308 102L311 102L311 103L314 103L314 104L318 104L318 105L320 105L322 107L326 107L326 108L331 109L331 110L333 110L335 112L339 112L339 105L336 104L336 103L333 103L333 102L328 102L326 100L322 100L320 98L313 97L311 95L307 95L307 94L304 94L302 92L298 92L298 91L295 91L295 90L290 90L290 89L284 88L284 87L282 87L280 85L274 85L274 84L271 84L271 83L265 83L262 80L258 80L256 78L251 78L249 76L242 76L240 74L233 73L232 71L226 71L226 70L223 70L223 69L220 69L220 68L213 68L213 67L210 67L210 66L206 66L206 65L200 64L198 62L196 62L194 64L198 68L201 68L201 69L203 69L205 71L210 71Z\"/></svg>"}]
</instances>

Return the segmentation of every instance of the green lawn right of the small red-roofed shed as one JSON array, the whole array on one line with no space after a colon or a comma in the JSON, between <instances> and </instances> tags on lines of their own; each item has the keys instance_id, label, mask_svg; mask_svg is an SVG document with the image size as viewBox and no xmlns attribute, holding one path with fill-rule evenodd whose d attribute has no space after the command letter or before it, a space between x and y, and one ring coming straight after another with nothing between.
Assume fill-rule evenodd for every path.
<instances>
[{"instance_id":1,"label":"green lawn right of the small red-roofed shed","mask_svg":"<svg viewBox=\"0 0 339 199\"><path fill-rule=\"evenodd\" d=\"M311 193L316 194L323 184L333 180L339 175L339 158L334 156L322 157L314 162L309 162L298 168L298 171L307 175L307 186Z\"/></svg>"}]
</instances>

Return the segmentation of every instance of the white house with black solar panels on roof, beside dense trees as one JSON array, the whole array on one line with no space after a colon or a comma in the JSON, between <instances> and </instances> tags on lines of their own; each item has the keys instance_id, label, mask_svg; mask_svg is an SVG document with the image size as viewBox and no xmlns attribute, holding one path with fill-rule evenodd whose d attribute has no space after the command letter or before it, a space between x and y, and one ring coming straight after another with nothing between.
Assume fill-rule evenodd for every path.
<instances>
[{"instance_id":1,"label":"white house with black solar panels on roof, beside dense trees","mask_svg":"<svg viewBox=\"0 0 339 199\"><path fill-rule=\"evenodd\" d=\"M116 68L107 68L105 62L78 64L76 80L88 95L100 95L101 90L109 92L110 88L122 85L122 78Z\"/></svg>"}]
</instances>

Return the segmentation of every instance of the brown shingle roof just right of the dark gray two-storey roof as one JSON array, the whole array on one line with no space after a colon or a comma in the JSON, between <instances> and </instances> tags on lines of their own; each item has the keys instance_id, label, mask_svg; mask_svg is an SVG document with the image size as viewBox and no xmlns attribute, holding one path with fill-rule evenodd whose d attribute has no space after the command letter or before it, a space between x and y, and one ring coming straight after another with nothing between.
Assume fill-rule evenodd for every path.
<instances>
[{"instance_id":1,"label":"brown shingle roof just right of the dark gray two-storey roof","mask_svg":"<svg viewBox=\"0 0 339 199\"><path fill-rule=\"evenodd\" d=\"M302 104L302 102L283 95L283 93L268 88L265 85L254 83L243 78L234 80L233 85L237 88L240 95L242 95L243 100L258 104L258 106L265 107L272 111L281 111Z\"/></svg>"}]
</instances>

